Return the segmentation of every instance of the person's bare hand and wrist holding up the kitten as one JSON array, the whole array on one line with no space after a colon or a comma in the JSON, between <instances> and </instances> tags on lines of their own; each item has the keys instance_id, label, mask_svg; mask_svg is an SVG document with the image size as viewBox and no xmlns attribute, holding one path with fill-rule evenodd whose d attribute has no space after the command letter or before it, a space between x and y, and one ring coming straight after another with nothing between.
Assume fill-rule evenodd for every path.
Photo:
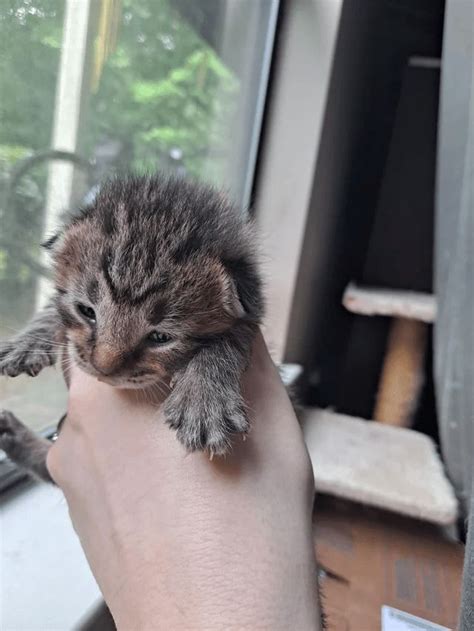
<instances>
[{"instance_id":1,"label":"person's bare hand and wrist holding up the kitten","mask_svg":"<svg viewBox=\"0 0 474 631\"><path fill-rule=\"evenodd\" d=\"M73 368L47 466L119 629L319 629L314 481L263 339L225 459L186 454L160 401Z\"/></svg>"}]
</instances>

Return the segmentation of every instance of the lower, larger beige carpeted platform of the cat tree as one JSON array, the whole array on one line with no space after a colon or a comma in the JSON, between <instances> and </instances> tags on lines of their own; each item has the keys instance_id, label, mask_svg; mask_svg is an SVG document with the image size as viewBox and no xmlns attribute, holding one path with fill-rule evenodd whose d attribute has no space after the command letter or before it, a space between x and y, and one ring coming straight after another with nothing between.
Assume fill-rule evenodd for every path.
<instances>
[{"instance_id":1,"label":"lower, larger beige carpeted platform of the cat tree","mask_svg":"<svg viewBox=\"0 0 474 631\"><path fill-rule=\"evenodd\" d=\"M309 409L304 434L316 490L439 524L457 501L433 441L410 429Z\"/></svg>"}]
</instances>

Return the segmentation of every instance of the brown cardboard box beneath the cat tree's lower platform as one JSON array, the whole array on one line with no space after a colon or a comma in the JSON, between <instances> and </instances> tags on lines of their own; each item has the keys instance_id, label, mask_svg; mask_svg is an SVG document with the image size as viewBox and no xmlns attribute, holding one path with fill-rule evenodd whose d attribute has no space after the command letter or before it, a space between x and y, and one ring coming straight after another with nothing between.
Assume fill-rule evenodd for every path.
<instances>
[{"instance_id":1,"label":"brown cardboard box beneath the cat tree's lower platform","mask_svg":"<svg viewBox=\"0 0 474 631\"><path fill-rule=\"evenodd\" d=\"M464 546L442 529L322 495L314 527L329 631L456 627Z\"/></svg>"}]
</instances>

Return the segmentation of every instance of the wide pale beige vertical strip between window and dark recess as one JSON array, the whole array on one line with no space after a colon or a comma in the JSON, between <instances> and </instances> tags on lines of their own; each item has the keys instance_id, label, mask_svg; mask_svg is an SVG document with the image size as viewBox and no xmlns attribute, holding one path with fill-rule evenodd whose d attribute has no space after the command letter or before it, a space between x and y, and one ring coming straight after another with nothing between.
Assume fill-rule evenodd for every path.
<instances>
[{"instance_id":1,"label":"wide pale beige vertical strip between window and dark recess","mask_svg":"<svg viewBox=\"0 0 474 631\"><path fill-rule=\"evenodd\" d=\"M292 0L278 37L254 210L263 247L265 339L281 361L336 49L341 0Z\"/></svg>"}]
</instances>

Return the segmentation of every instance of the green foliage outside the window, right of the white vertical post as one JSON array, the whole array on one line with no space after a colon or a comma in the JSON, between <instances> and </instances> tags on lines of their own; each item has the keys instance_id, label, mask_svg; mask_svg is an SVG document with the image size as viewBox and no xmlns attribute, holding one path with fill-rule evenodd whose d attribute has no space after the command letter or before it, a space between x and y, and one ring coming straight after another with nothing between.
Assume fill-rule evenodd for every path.
<instances>
[{"instance_id":1,"label":"green foliage outside the window, right of the white vertical post","mask_svg":"<svg viewBox=\"0 0 474 631\"><path fill-rule=\"evenodd\" d=\"M123 0L119 43L90 96L84 146L120 139L135 169L166 167L178 148L189 173L221 181L238 81L171 5Z\"/></svg>"}]
</instances>

